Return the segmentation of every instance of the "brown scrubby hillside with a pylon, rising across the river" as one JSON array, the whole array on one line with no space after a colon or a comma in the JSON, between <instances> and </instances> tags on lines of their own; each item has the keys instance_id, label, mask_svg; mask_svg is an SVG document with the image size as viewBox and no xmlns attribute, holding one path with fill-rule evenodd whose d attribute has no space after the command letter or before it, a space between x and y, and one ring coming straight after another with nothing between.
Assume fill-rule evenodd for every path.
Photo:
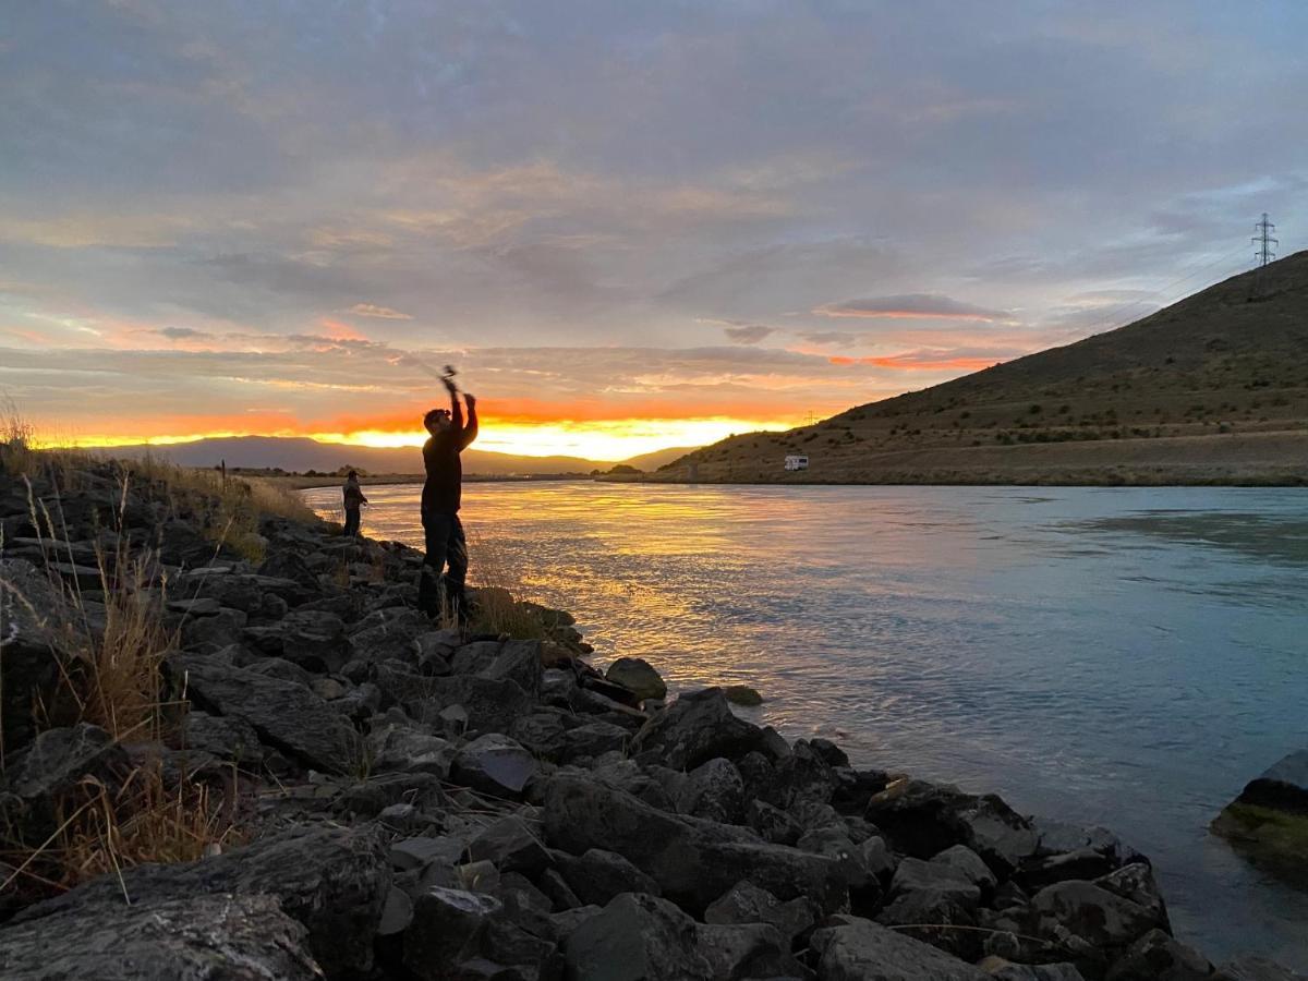
<instances>
[{"instance_id":1,"label":"brown scrubby hillside with a pylon, rising across the river","mask_svg":"<svg viewBox=\"0 0 1308 981\"><path fill-rule=\"evenodd\" d=\"M1308 251L1075 344L731 437L658 479L1308 483L1305 351ZM786 454L807 454L808 470L785 471Z\"/></svg>"}]
</instances>

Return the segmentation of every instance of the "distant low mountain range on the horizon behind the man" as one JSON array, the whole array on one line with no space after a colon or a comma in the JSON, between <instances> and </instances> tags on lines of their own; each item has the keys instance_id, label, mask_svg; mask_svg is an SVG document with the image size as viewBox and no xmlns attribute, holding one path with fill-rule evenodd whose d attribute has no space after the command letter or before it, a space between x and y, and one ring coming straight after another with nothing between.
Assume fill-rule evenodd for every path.
<instances>
[{"instance_id":1,"label":"distant low mountain range on the horizon behind the man","mask_svg":"<svg viewBox=\"0 0 1308 981\"><path fill-rule=\"evenodd\" d=\"M689 451L688 447L676 447L632 456L621 462L638 470L658 470L664 463L684 456ZM307 470L335 472L345 466L357 467L369 473L420 473L422 471L422 455L416 446L387 449L324 443L307 437L234 436L162 446L115 446L112 453L122 456L150 454L166 458L182 467L216 467L218 463L226 462L228 467L233 468L280 467L300 473ZM581 456L515 456L473 449L463 453L464 472L487 476L590 473L593 470L608 470L612 466L612 460L587 460Z\"/></svg>"}]
</instances>

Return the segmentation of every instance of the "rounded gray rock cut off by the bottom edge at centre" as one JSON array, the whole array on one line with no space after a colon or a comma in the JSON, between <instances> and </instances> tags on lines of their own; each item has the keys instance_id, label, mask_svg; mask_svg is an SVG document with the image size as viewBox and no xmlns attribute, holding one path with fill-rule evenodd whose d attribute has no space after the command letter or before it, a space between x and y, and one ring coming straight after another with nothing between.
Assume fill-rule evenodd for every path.
<instances>
[{"instance_id":1,"label":"rounded gray rock cut off by the bottom edge at centre","mask_svg":"<svg viewBox=\"0 0 1308 981\"><path fill-rule=\"evenodd\" d=\"M570 981L710 981L695 921L671 903L623 893L564 940Z\"/></svg>"}]
</instances>

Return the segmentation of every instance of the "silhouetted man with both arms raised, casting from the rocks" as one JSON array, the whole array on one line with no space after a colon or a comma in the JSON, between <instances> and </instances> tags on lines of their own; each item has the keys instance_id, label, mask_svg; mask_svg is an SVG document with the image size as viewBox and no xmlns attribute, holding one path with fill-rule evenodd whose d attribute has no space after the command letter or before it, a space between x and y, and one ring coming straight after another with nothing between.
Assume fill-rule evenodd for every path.
<instances>
[{"instance_id":1,"label":"silhouetted man with both arms raised, casting from the rocks","mask_svg":"<svg viewBox=\"0 0 1308 981\"><path fill-rule=\"evenodd\" d=\"M422 485L422 534L426 538L426 557L419 581L417 604L428 616L442 612L443 600L460 623L467 620L467 602L463 583L468 574L468 543L459 523L459 504L463 494L463 463L459 454L477 438L477 400L463 394L468 405L467 422L459 405L459 390L454 385L454 369L446 366L441 377L450 392L449 409L432 409L422 417L422 425L432 434L422 445L422 463L426 483ZM445 589L441 589L441 572Z\"/></svg>"}]
</instances>

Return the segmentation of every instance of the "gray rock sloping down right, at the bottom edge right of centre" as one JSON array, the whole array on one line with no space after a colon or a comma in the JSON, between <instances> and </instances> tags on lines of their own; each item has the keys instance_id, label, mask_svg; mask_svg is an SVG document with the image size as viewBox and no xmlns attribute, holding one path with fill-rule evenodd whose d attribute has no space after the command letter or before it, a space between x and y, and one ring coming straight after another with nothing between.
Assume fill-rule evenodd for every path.
<instances>
[{"instance_id":1,"label":"gray rock sloping down right, at the bottom edge right of centre","mask_svg":"<svg viewBox=\"0 0 1308 981\"><path fill-rule=\"evenodd\" d=\"M986 981L988 974L910 937L857 917L835 917L808 940L823 981Z\"/></svg>"}]
</instances>

